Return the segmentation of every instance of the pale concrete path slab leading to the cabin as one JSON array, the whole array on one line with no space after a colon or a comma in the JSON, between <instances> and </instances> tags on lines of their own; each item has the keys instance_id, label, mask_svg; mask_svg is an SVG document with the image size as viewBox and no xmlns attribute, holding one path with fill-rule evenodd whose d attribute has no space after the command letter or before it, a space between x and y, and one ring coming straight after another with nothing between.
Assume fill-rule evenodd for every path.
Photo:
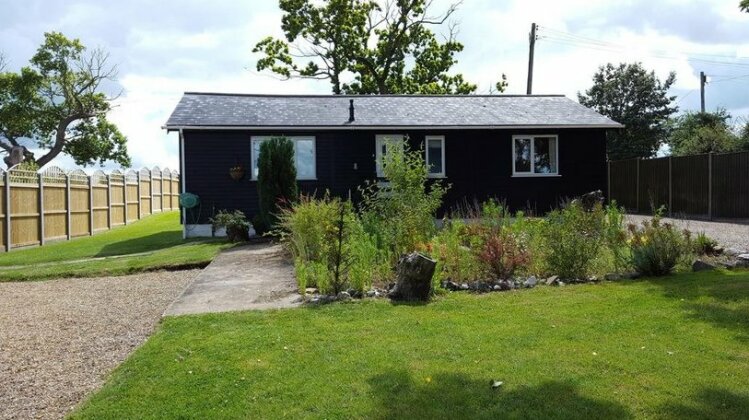
<instances>
[{"instance_id":1,"label":"pale concrete path slab leading to the cabin","mask_svg":"<svg viewBox=\"0 0 749 420\"><path fill-rule=\"evenodd\" d=\"M220 253L164 316L299 306L294 266L280 245L253 244Z\"/></svg>"}]
</instances>

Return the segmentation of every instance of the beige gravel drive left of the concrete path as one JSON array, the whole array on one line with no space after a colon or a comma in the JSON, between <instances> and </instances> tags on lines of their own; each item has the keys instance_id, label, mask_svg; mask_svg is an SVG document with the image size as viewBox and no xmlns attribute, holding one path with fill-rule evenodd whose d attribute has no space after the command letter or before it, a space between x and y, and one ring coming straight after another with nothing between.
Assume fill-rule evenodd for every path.
<instances>
[{"instance_id":1,"label":"beige gravel drive left of the concrete path","mask_svg":"<svg viewBox=\"0 0 749 420\"><path fill-rule=\"evenodd\" d=\"M0 283L0 418L61 418L200 270Z\"/></svg>"}]
</instances>

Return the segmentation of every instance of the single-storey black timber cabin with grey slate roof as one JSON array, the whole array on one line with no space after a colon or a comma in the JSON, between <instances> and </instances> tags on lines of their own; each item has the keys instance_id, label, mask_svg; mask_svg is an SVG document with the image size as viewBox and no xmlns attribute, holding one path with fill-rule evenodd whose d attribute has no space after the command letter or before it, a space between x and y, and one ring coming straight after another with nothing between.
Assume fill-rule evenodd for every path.
<instances>
[{"instance_id":1,"label":"single-storey black timber cabin with grey slate roof","mask_svg":"<svg viewBox=\"0 0 749 420\"><path fill-rule=\"evenodd\" d=\"M561 95L184 94L165 128L179 132L185 232L211 235L220 209L258 211L260 142L296 147L299 189L348 196L382 176L388 141L422 147L430 177L451 185L445 209L498 198L543 213L607 189L606 130L622 126ZM242 167L242 171L232 168Z\"/></svg>"}]
</instances>

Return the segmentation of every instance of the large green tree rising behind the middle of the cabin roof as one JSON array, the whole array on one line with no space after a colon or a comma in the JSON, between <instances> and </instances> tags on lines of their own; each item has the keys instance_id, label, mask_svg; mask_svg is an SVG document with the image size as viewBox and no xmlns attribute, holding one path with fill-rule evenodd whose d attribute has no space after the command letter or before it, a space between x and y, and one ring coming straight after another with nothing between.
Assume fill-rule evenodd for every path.
<instances>
[{"instance_id":1,"label":"large green tree rising behind the middle of the cabin roof","mask_svg":"<svg viewBox=\"0 0 749 420\"><path fill-rule=\"evenodd\" d=\"M456 5L433 14L432 2L279 0L285 39L255 46L257 69L329 80L335 94L472 93L476 85L450 73L463 50L455 26L443 42L430 29L447 22Z\"/></svg>"}]
</instances>

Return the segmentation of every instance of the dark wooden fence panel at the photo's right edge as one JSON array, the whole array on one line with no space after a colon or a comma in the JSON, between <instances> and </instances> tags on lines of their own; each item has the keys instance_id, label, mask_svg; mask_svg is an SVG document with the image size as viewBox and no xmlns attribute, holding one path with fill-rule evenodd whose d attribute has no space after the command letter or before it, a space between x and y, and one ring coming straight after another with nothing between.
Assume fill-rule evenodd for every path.
<instances>
[{"instance_id":1,"label":"dark wooden fence panel at the photo's right edge","mask_svg":"<svg viewBox=\"0 0 749 420\"><path fill-rule=\"evenodd\" d=\"M749 218L749 152L713 155L713 216Z\"/></svg>"}]
</instances>

